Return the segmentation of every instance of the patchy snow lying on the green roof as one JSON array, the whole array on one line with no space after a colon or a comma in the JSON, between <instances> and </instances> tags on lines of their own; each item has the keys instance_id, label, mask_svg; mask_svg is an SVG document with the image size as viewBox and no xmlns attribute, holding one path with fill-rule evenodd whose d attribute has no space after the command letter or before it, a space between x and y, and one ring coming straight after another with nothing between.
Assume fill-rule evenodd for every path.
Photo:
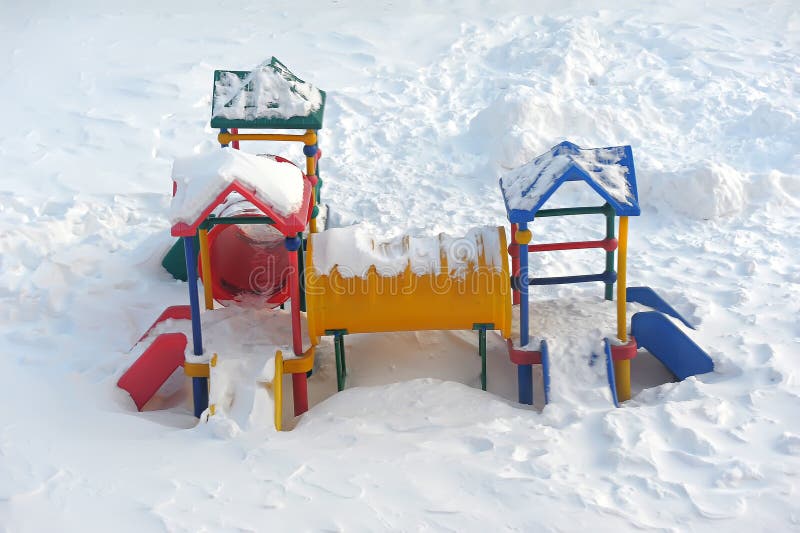
<instances>
[{"instance_id":1,"label":"patchy snow lying on the green roof","mask_svg":"<svg viewBox=\"0 0 800 533\"><path fill-rule=\"evenodd\" d=\"M217 71L211 118L255 121L308 117L323 104L322 92L276 58L250 72Z\"/></svg>"}]
</instances>

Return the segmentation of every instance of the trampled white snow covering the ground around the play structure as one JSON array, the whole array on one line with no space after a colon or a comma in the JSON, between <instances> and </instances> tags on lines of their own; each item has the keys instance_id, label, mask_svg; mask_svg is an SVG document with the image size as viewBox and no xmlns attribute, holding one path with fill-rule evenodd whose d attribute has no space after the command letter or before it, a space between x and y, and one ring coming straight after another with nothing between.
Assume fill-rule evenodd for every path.
<instances>
[{"instance_id":1,"label":"trampled white snow covering the ground around the play structure","mask_svg":"<svg viewBox=\"0 0 800 533\"><path fill-rule=\"evenodd\" d=\"M796 3L75 4L0 3L0 530L800 529ZM213 70L272 55L327 91L332 225L501 225L509 169L565 139L632 145L630 284L699 324L716 372L611 408L585 363L613 309L549 287L542 412L513 402L495 336L480 390L474 332L348 338L340 394L326 341L291 432L195 425L176 380L136 412L115 385L129 350L186 302L160 267L172 160L217 149ZM540 242L602 229L533 225ZM594 272L598 254L532 268Z\"/></svg>"}]
</instances>

